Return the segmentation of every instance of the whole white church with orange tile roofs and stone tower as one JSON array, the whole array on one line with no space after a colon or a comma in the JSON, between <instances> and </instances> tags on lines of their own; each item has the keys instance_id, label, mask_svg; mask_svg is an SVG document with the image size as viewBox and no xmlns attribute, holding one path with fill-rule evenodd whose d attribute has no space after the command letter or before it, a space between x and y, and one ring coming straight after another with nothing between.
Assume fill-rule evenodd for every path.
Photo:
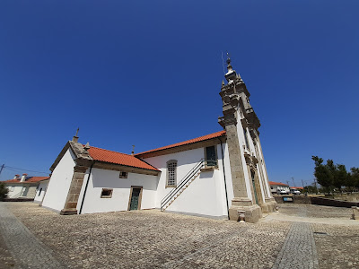
<instances>
[{"instance_id":1,"label":"whole white church with orange tile roofs and stone tower","mask_svg":"<svg viewBox=\"0 0 359 269\"><path fill-rule=\"evenodd\" d=\"M275 211L250 92L227 59L223 130L134 154L68 141L41 205L61 214L160 209L248 222Z\"/></svg>"}]
</instances>

